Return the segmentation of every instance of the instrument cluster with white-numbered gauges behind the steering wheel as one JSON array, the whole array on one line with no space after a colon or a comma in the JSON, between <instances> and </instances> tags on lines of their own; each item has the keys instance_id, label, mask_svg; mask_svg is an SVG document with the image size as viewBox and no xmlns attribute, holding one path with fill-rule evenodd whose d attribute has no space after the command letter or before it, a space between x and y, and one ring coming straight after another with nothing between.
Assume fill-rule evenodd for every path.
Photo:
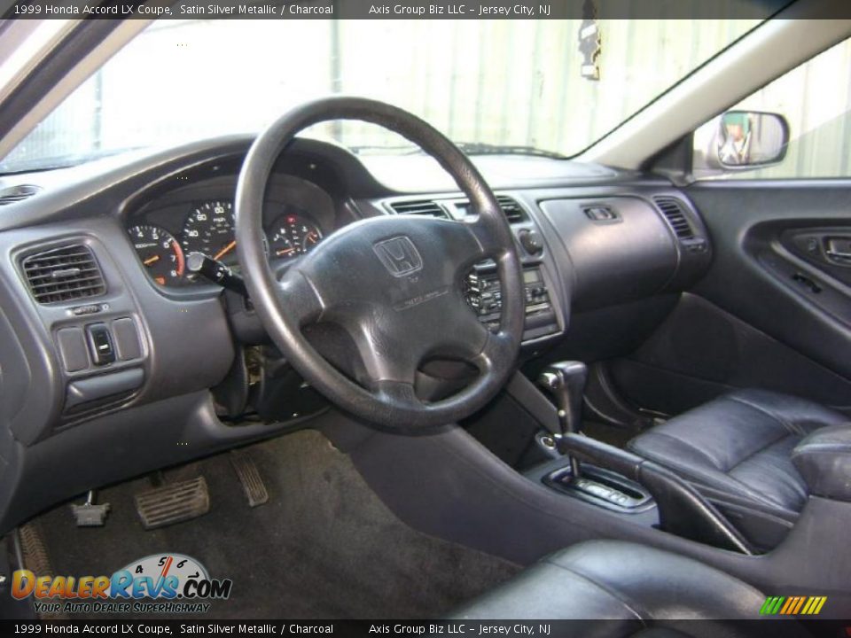
<instances>
[{"instance_id":1,"label":"instrument cluster with white-numbered gauges behind the steering wheel","mask_svg":"<svg viewBox=\"0 0 851 638\"><path fill-rule=\"evenodd\" d=\"M330 196L295 177L278 180L263 209L269 262L285 265L312 250L334 229ZM158 198L130 214L127 231L139 260L161 286L192 283L186 256L203 253L238 268L234 235L233 189L202 184Z\"/></svg>"}]
</instances>

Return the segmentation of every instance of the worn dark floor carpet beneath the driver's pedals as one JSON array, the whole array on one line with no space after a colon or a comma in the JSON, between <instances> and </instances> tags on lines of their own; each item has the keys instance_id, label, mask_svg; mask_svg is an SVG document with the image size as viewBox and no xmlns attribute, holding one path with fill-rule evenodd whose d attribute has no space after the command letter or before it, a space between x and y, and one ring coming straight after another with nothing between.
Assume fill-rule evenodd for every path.
<instances>
[{"instance_id":1,"label":"worn dark floor carpet beneath the driver's pedals","mask_svg":"<svg viewBox=\"0 0 851 638\"><path fill-rule=\"evenodd\" d=\"M248 506L227 454L183 469L207 479L211 498L209 513L185 523L145 532L133 494L148 481L114 486L98 494L112 506L103 528L76 527L67 505L37 520L56 573L109 575L179 552L233 580L230 599L205 617L372 619L440 616L519 571L402 524L318 432L245 449L269 488L266 505Z\"/></svg>"}]
</instances>

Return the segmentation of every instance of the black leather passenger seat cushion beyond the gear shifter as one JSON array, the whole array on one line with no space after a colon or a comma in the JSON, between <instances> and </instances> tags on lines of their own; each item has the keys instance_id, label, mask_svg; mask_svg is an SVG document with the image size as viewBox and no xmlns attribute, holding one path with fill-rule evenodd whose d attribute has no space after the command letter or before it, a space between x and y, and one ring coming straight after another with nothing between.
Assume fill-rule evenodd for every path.
<instances>
[{"instance_id":1,"label":"black leather passenger seat cushion beyond the gear shifter","mask_svg":"<svg viewBox=\"0 0 851 638\"><path fill-rule=\"evenodd\" d=\"M797 513L808 487L792 464L805 436L848 418L785 394L742 390L656 425L628 443L712 499L730 497L762 511Z\"/></svg>"}]
</instances>

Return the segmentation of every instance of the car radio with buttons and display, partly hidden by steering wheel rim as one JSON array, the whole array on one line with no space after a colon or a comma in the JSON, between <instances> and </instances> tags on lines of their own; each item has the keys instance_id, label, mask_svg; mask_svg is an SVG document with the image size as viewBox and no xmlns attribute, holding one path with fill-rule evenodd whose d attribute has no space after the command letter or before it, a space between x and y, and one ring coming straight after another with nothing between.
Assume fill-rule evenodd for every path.
<instances>
[{"instance_id":1,"label":"car radio with buttons and display, partly hidden by steering wheel rim","mask_svg":"<svg viewBox=\"0 0 851 638\"><path fill-rule=\"evenodd\" d=\"M528 341L558 332L558 316L552 307L550 291L543 279L541 268L523 268L523 288L526 306L523 340ZM496 331L503 307L502 284L496 271L473 269L465 281L465 297L470 307L479 315L479 321Z\"/></svg>"}]
</instances>

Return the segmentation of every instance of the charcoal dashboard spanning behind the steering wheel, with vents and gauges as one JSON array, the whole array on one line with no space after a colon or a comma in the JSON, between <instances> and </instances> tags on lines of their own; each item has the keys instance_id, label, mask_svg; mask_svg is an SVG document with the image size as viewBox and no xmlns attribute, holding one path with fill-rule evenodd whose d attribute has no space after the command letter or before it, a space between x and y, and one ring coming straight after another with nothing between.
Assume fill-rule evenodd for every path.
<instances>
[{"instance_id":1,"label":"charcoal dashboard spanning behind the steering wheel, with vents and gauges","mask_svg":"<svg viewBox=\"0 0 851 638\"><path fill-rule=\"evenodd\" d=\"M321 397L276 354L250 303L187 272L191 253L238 269L233 202L252 141L0 177L0 204L5 191L15 195L0 208L0 526L322 414ZM523 361L570 339L589 360L616 356L628 343L621 333L664 318L664 304L644 312L653 300L675 297L706 271L707 230L664 180L556 159L474 161L523 266ZM279 272L363 218L470 213L426 158L358 157L296 139L272 169L262 220ZM458 281L489 327L501 312L494 271L482 263ZM316 337L343 352L340 331ZM229 420L248 404L262 418Z\"/></svg>"}]
</instances>

